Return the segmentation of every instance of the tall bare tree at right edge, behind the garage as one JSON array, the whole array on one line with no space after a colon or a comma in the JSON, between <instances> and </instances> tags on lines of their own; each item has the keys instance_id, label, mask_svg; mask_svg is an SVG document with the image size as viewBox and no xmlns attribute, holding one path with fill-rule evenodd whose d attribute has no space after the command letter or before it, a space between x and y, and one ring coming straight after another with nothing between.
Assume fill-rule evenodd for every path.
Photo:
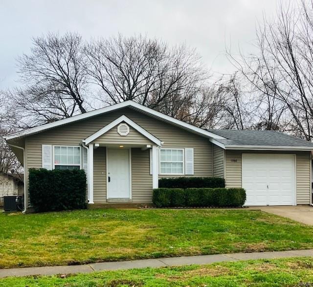
<instances>
[{"instance_id":1,"label":"tall bare tree at right edge, behind the garage","mask_svg":"<svg viewBox=\"0 0 313 287\"><path fill-rule=\"evenodd\" d=\"M313 1L281 4L277 20L257 30L258 53L231 56L262 104L267 129L313 139Z\"/></svg>"}]
</instances>

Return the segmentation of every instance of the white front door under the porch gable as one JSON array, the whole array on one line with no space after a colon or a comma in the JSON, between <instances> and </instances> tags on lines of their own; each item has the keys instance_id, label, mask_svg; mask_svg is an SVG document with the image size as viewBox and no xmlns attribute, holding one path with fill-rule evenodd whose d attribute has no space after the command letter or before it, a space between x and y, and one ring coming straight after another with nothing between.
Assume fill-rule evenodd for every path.
<instances>
[{"instance_id":1,"label":"white front door under the porch gable","mask_svg":"<svg viewBox=\"0 0 313 287\"><path fill-rule=\"evenodd\" d=\"M130 163L128 149L108 149L108 199L130 198Z\"/></svg>"}]
</instances>

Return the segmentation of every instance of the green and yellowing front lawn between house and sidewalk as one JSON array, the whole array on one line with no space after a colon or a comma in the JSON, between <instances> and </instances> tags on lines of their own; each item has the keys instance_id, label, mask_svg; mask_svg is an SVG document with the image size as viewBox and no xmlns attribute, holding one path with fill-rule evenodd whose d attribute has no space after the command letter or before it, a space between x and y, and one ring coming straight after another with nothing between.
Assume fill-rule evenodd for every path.
<instances>
[{"instance_id":1,"label":"green and yellowing front lawn between house and sidewalk","mask_svg":"<svg viewBox=\"0 0 313 287\"><path fill-rule=\"evenodd\" d=\"M313 248L313 228L255 210L0 214L0 267Z\"/></svg>"}]
</instances>

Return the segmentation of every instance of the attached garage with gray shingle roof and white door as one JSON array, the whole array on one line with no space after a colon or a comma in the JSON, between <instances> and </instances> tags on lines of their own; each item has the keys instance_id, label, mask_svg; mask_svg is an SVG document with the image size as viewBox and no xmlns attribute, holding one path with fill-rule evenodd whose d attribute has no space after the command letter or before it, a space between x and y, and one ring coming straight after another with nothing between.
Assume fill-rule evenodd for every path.
<instances>
[{"instance_id":1,"label":"attached garage with gray shingle roof and white door","mask_svg":"<svg viewBox=\"0 0 313 287\"><path fill-rule=\"evenodd\" d=\"M209 130L213 131L213 130ZM246 206L312 204L313 143L276 131L214 130L213 175L246 189Z\"/></svg>"}]
</instances>

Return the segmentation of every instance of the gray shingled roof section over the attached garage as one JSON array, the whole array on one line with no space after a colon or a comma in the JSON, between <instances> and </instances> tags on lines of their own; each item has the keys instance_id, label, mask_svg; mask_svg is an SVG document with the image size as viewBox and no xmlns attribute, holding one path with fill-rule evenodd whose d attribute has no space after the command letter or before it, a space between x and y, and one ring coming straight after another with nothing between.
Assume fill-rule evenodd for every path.
<instances>
[{"instance_id":1,"label":"gray shingled roof section over the attached garage","mask_svg":"<svg viewBox=\"0 0 313 287\"><path fill-rule=\"evenodd\" d=\"M313 150L313 143L277 131L208 130L224 137L212 142L231 150Z\"/></svg>"}]
</instances>

